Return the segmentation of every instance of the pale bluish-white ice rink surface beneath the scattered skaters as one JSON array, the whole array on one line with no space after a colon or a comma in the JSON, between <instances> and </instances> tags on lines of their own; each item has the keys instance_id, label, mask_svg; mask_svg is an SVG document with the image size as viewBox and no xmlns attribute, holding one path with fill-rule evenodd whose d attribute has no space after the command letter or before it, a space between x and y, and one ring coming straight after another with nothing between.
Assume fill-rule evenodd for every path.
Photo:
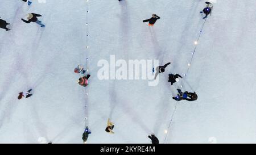
<instances>
[{"instance_id":1,"label":"pale bluish-white ice rink surface beneath the scattered skaters","mask_svg":"<svg viewBox=\"0 0 256 155\"><path fill-rule=\"evenodd\" d=\"M88 144L151 143L151 133L160 143L256 143L254 0L213 3L183 81L182 90L199 99L172 99L181 82L171 86L168 74L187 71L204 2L89 0L86 49L86 0L1 1L0 16L11 31L0 29L0 143L82 143L85 125L92 131ZM30 12L42 14L46 27L20 20ZM148 27L142 20L153 13L161 19ZM110 55L172 64L158 86L100 81L97 62ZM92 77L82 87L73 69L86 56ZM17 99L30 88L31 98ZM108 118L113 135L105 132Z\"/></svg>"}]
</instances>

